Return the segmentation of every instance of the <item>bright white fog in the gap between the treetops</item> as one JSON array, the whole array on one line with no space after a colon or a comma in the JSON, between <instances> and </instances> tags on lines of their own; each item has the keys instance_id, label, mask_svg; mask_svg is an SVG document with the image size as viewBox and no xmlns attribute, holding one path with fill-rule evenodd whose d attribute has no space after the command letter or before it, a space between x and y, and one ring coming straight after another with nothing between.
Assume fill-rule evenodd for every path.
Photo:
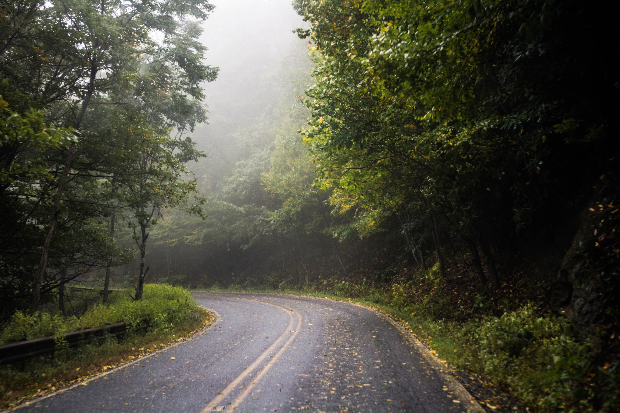
<instances>
[{"instance_id":1,"label":"bright white fog in the gap between the treetops","mask_svg":"<svg viewBox=\"0 0 620 413\"><path fill-rule=\"evenodd\" d=\"M220 71L215 82L204 85L209 123L192 134L198 147L210 154L200 167L192 167L200 175L207 173L208 165L215 173L215 163L223 172L221 162L234 162L221 159L230 157L237 145L230 134L249 127L280 94L265 84L265 76L278 68L291 48L307 52L304 42L292 33L303 21L291 0L216 0L214 4L215 12L203 23L201 41L209 49L207 64Z\"/></svg>"}]
</instances>

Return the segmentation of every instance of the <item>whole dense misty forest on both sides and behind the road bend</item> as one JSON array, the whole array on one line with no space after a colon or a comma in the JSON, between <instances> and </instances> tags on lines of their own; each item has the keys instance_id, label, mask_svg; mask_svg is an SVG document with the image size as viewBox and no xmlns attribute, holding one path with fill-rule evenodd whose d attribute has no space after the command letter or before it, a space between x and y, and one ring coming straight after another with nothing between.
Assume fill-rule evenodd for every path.
<instances>
[{"instance_id":1,"label":"whole dense misty forest on both sides and behind the road bend","mask_svg":"<svg viewBox=\"0 0 620 413\"><path fill-rule=\"evenodd\" d=\"M0 320L66 313L72 287L139 300L144 282L372 291L453 323L528 308L587 349L531 406L617 408L611 14L293 7L298 41L262 74L239 69L234 99L205 92L219 69L198 40L204 0L1 6ZM513 359L526 329L507 333Z\"/></svg>"}]
</instances>

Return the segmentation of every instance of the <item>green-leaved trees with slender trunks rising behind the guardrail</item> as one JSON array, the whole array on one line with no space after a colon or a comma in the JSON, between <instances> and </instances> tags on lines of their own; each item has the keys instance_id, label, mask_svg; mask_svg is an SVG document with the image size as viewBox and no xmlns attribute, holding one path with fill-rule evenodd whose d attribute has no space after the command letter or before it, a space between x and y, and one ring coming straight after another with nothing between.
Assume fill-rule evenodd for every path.
<instances>
[{"instance_id":1,"label":"green-leaved trees with slender trunks rising behind the guardrail","mask_svg":"<svg viewBox=\"0 0 620 413\"><path fill-rule=\"evenodd\" d=\"M161 208L200 212L184 165L203 154L184 135L206 120L201 84L218 69L204 63L200 22L188 19L213 8L2 4L0 320L30 297L36 307L40 293L126 263L131 246L113 243L110 215L137 211L133 224L149 227Z\"/></svg>"}]
</instances>

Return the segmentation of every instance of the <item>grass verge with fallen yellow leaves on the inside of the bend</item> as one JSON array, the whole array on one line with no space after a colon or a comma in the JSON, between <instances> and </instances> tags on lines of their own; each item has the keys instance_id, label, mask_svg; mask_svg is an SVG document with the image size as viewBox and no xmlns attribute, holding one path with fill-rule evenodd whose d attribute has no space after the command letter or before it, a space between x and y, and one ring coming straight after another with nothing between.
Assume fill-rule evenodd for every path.
<instances>
[{"instance_id":1,"label":"grass verge with fallen yellow leaves on the inside of the bend","mask_svg":"<svg viewBox=\"0 0 620 413\"><path fill-rule=\"evenodd\" d=\"M149 290L149 295L146 294L146 290ZM91 311L99 312L101 320L106 319L102 313L115 313L117 317L112 320L127 321L127 317L135 320L144 311L151 311L150 315L156 320L148 325L133 324L118 338L110 335L102 336L75 349L63 349L51 355L25 360L23 363L1 366L0 409L15 407L30 399L87 380L197 334L213 321L214 315L198 306L193 300L187 303L182 301L181 298L186 296L191 298L190 293L178 287L151 285L148 289L145 288L144 303L138 304L138 308L142 311L136 311L130 302L122 298L118 298L117 302L110 305L92 308ZM94 315L90 316L92 320ZM38 320L54 318L41 315L37 317ZM20 316L17 324L20 321L22 322L20 326L15 325L15 320L13 324L6 326L3 331L6 333L5 337L9 335L6 332L8 328L17 330L23 327L23 316ZM75 320L69 320L69 323L75 323ZM45 333L49 333L50 328L54 326L56 331L64 330L66 327L62 326L69 323L48 324L47 328L38 329L40 331L38 335L47 335Z\"/></svg>"}]
</instances>

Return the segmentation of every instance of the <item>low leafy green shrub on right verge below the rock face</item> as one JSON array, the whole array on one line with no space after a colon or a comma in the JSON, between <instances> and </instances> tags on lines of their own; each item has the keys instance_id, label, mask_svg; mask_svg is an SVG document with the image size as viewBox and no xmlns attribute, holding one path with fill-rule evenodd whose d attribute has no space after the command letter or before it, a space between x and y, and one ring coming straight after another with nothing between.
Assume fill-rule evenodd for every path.
<instances>
[{"instance_id":1,"label":"low leafy green shrub on right verge below the rock face","mask_svg":"<svg viewBox=\"0 0 620 413\"><path fill-rule=\"evenodd\" d=\"M510 387L542 411L565 409L591 396L584 387L590 349L575 340L569 320L538 316L531 303L501 317L466 323L454 336L463 367Z\"/></svg>"}]
</instances>

